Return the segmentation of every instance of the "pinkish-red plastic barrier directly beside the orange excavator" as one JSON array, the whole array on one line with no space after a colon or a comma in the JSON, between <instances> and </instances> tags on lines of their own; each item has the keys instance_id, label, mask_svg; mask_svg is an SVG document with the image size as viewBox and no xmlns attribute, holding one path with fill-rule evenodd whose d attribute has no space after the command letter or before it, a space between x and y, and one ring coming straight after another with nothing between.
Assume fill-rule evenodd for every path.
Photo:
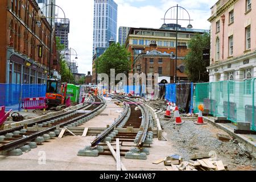
<instances>
[{"instance_id":1,"label":"pinkish-red plastic barrier directly beside the orange excavator","mask_svg":"<svg viewBox=\"0 0 256 182\"><path fill-rule=\"evenodd\" d=\"M36 97L36 98L23 98L22 100L23 109L46 109L48 106L46 104L46 97Z\"/></svg>"}]
</instances>

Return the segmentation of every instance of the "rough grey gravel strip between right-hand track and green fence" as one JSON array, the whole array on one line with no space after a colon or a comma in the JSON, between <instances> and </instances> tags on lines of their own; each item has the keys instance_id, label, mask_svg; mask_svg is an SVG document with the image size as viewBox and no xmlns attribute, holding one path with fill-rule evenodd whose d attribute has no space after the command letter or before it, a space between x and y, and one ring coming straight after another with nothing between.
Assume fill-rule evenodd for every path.
<instances>
[{"instance_id":1,"label":"rough grey gravel strip between right-hand track and green fence","mask_svg":"<svg viewBox=\"0 0 256 182\"><path fill-rule=\"evenodd\" d=\"M195 125L193 121L185 120L183 125L176 126L175 119L164 119L164 101L150 101L147 104L154 109L163 111L158 114L162 129L166 133L167 140L174 143L176 151L184 160L189 160L192 154L198 152L216 151L217 159L224 164L229 164L229 170L255 170L256 161L238 140L222 142L218 140L217 133L225 134L224 131L210 125Z\"/></svg>"}]
</instances>

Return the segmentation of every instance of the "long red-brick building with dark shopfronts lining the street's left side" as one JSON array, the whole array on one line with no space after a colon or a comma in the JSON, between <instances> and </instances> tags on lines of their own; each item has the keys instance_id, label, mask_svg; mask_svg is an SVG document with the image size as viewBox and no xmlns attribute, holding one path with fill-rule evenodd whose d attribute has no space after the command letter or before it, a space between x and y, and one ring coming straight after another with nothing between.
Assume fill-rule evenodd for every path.
<instances>
[{"instance_id":1,"label":"long red-brick building with dark shopfronts lining the street's left side","mask_svg":"<svg viewBox=\"0 0 256 182\"><path fill-rule=\"evenodd\" d=\"M42 84L48 74L51 27L35 0L0 1L0 82ZM36 22L40 22L40 26ZM59 71L53 30L51 71Z\"/></svg>"}]
</instances>

